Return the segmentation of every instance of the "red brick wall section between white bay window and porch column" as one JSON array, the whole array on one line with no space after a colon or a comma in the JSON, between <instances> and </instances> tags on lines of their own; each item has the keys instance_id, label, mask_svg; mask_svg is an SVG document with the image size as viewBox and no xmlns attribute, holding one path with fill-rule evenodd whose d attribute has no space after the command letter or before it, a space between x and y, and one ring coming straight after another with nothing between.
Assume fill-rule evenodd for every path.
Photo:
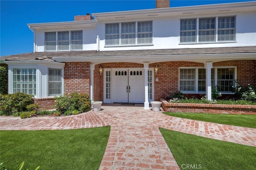
<instances>
[{"instance_id":1,"label":"red brick wall section between white bay window and porch column","mask_svg":"<svg viewBox=\"0 0 256 170\"><path fill-rule=\"evenodd\" d=\"M90 62L68 62L64 66L64 93L90 95Z\"/></svg>"}]
</instances>

